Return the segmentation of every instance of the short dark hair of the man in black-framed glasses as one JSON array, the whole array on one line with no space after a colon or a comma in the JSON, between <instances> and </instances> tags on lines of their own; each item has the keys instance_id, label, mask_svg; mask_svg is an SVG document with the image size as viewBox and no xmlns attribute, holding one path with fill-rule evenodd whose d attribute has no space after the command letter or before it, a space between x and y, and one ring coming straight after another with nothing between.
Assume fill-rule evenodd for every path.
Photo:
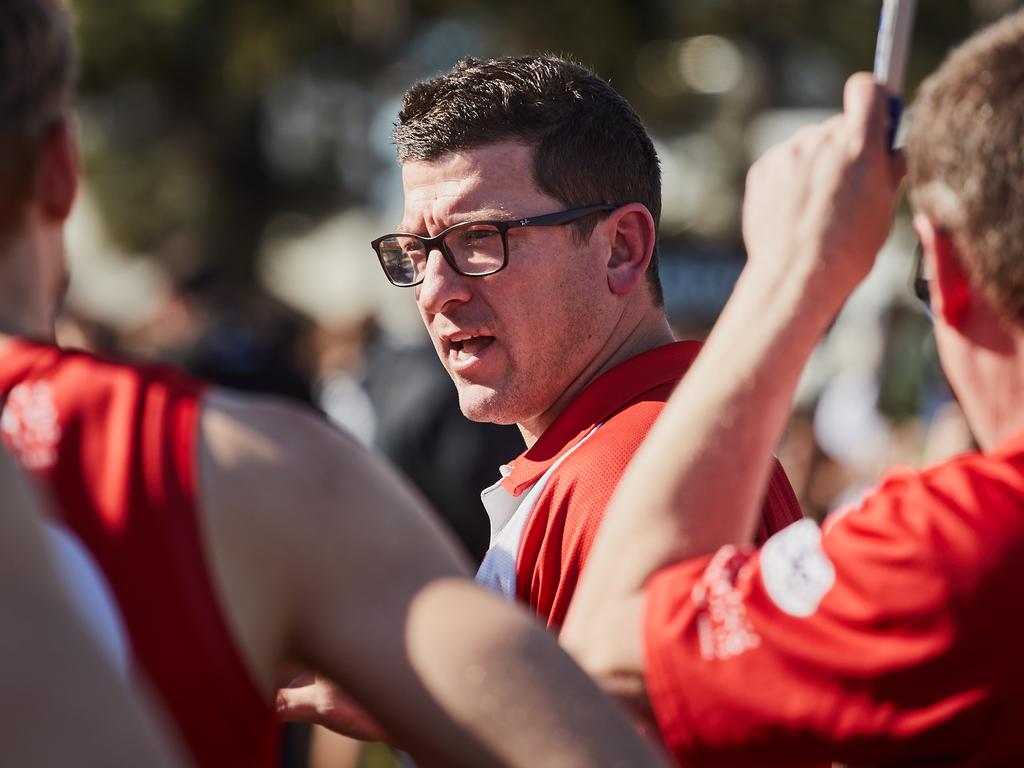
<instances>
[{"instance_id":1,"label":"short dark hair of the man in black-framed glasses","mask_svg":"<svg viewBox=\"0 0 1024 768\"><path fill-rule=\"evenodd\" d=\"M642 203L655 226L662 215L660 167L640 118L604 80L562 58L464 58L409 89L393 137L401 163L518 141L534 148L537 185L567 208ZM574 224L579 242L594 225ZM656 247L647 278L662 304Z\"/></svg>"}]
</instances>

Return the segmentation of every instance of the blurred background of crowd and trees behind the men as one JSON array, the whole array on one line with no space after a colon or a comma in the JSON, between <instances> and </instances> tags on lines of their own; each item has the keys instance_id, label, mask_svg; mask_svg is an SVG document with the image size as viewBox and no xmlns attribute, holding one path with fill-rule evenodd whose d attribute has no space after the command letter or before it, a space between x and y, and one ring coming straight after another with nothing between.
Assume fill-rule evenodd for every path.
<instances>
[{"instance_id":1,"label":"blurred background of crowd and trees behind the men","mask_svg":"<svg viewBox=\"0 0 1024 768\"><path fill-rule=\"evenodd\" d=\"M1019 4L920 3L908 93ZM845 78L871 67L881 2L73 5L86 188L60 341L319 409L409 473L479 558L478 492L522 443L462 418L411 292L369 245L401 218L390 129L404 89L466 55L539 51L608 79L662 160L670 317L702 338L742 267L746 168L839 109ZM908 289L913 248L904 209L806 372L779 457L808 514L855 499L883 467L972 446Z\"/></svg>"}]
</instances>

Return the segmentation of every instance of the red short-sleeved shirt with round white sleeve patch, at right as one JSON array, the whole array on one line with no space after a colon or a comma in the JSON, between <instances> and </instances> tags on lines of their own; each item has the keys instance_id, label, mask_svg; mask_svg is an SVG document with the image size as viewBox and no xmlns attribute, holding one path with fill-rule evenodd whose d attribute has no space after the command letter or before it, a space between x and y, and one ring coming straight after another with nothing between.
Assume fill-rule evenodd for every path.
<instances>
[{"instance_id":1,"label":"red short-sleeved shirt with round white sleeve patch, at right","mask_svg":"<svg viewBox=\"0 0 1024 768\"><path fill-rule=\"evenodd\" d=\"M1016 765L1024 435L894 474L824 529L824 557L801 549L788 562L804 584L785 590L771 578L777 548L723 550L648 583L648 694L679 763ZM783 610L822 562L834 582L816 607ZM710 584L729 605L731 646L709 642L726 626ZM737 652L709 653L727 647Z\"/></svg>"}]
</instances>

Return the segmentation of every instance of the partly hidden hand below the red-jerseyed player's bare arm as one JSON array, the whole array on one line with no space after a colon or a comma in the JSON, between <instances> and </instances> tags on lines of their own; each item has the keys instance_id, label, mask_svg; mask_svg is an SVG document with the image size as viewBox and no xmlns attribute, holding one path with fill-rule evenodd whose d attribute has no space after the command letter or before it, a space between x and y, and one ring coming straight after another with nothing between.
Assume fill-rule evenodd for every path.
<instances>
[{"instance_id":1,"label":"partly hidden hand below the red-jerseyed player's bare arm","mask_svg":"<svg viewBox=\"0 0 1024 768\"><path fill-rule=\"evenodd\" d=\"M278 690L278 717L323 725L362 741L389 741L384 729L334 683L312 674Z\"/></svg>"}]
</instances>

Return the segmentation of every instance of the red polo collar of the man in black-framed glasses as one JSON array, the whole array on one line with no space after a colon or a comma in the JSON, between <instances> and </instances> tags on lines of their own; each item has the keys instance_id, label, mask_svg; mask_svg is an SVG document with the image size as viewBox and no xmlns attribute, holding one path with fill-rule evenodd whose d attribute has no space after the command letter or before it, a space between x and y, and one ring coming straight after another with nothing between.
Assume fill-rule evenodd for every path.
<instances>
[{"instance_id":1,"label":"red polo collar of the man in black-framed glasses","mask_svg":"<svg viewBox=\"0 0 1024 768\"><path fill-rule=\"evenodd\" d=\"M682 378L699 351L699 341L677 341L605 371L558 415L532 447L512 462L512 472L502 479L502 486L519 496L602 421L644 392Z\"/></svg>"}]
</instances>

